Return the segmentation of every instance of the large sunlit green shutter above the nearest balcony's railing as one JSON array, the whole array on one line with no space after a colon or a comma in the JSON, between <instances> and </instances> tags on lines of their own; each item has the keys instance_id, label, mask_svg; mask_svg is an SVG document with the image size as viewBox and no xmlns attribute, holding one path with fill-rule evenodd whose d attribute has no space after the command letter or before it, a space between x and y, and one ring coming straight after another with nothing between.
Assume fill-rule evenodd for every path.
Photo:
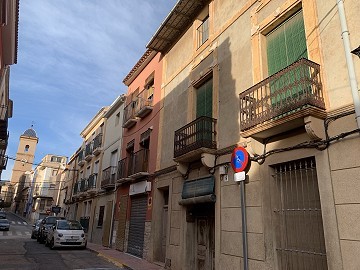
<instances>
[{"instance_id":1,"label":"large sunlit green shutter above the nearest balcony's railing","mask_svg":"<svg viewBox=\"0 0 360 270\"><path fill-rule=\"evenodd\" d=\"M266 36L269 76L307 58L306 36L302 11L286 20Z\"/></svg>"}]
</instances>

